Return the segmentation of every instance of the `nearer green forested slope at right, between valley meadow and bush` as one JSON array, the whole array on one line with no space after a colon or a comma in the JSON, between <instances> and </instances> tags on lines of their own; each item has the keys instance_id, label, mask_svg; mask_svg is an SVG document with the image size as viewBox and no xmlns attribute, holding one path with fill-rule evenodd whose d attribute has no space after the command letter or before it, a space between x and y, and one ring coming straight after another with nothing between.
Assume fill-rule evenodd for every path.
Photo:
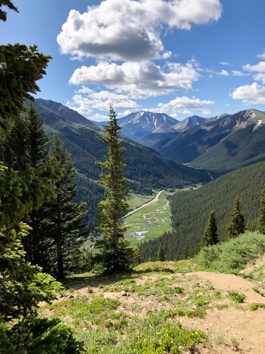
<instances>
[{"instance_id":1,"label":"nearer green forested slope at right, between valley meadow and bush","mask_svg":"<svg viewBox=\"0 0 265 354\"><path fill-rule=\"evenodd\" d=\"M264 183L265 161L262 161L220 176L199 189L176 193L170 202L173 232L149 242L142 241L141 256L154 259L160 242L169 260L181 259L186 244L193 255L212 210L216 213L219 239L223 241L237 196L243 214L251 223L257 224Z\"/></svg>"}]
</instances>

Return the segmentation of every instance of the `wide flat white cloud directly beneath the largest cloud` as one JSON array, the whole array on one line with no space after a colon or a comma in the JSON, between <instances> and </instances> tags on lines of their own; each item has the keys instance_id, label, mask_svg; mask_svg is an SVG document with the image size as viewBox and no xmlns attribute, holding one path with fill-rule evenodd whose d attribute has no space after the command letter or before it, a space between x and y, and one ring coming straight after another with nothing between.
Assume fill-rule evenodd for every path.
<instances>
[{"instance_id":1,"label":"wide flat white cloud directly beneath the largest cloud","mask_svg":"<svg viewBox=\"0 0 265 354\"><path fill-rule=\"evenodd\" d=\"M90 67L82 66L73 73L70 84L104 84L116 92L130 92L130 97L146 98L165 95L174 90L190 90L200 74L192 63L166 64L169 73L151 61L116 63L99 62ZM129 97L129 96L128 96Z\"/></svg>"}]
</instances>

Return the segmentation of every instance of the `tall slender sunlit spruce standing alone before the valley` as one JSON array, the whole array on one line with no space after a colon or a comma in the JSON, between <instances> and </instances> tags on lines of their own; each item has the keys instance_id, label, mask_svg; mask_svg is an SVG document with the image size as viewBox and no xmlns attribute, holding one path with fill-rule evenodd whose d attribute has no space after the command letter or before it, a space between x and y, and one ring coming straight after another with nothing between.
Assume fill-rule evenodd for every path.
<instances>
[{"instance_id":1,"label":"tall slender sunlit spruce standing alone before the valley","mask_svg":"<svg viewBox=\"0 0 265 354\"><path fill-rule=\"evenodd\" d=\"M107 133L107 137L100 136L108 146L108 156L104 155L104 162L95 162L102 170L109 172L107 175L102 173L97 182L106 188L104 194L107 199L98 204L100 222L95 230L102 234L102 239L96 241L95 247L100 249L108 269L119 270L130 264L129 253L132 252L128 247L129 240L124 238L128 226L123 224L123 215L130 209L128 198L132 191L128 190L129 183L121 173L126 166L126 160L122 159L126 149L119 147L124 140L118 139L121 127L117 125L117 115L111 107L108 116L109 125L103 126L103 132Z\"/></svg>"}]
</instances>

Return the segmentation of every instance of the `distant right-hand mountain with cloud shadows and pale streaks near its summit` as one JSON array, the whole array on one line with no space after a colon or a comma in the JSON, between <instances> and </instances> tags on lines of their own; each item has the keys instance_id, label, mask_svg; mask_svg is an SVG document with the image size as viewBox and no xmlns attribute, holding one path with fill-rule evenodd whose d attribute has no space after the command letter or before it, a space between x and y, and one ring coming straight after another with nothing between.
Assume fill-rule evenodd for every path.
<instances>
[{"instance_id":1,"label":"distant right-hand mountain with cloud shadows and pale streaks near its summit","mask_svg":"<svg viewBox=\"0 0 265 354\"><path fill-rule=\"evenodd\" d=\"M264 126L265 114L248 109L194 126L152 147L177 162L229 172L265 159Z\"/></svg>"}]
</instances>

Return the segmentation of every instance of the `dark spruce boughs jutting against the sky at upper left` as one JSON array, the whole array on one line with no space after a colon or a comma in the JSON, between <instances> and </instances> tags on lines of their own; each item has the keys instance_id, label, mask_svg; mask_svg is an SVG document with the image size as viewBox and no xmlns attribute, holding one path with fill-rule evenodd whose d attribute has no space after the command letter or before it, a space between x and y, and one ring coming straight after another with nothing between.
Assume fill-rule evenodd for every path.
<instances>
[{"instance_id":1,"label":"dark spruce boughs jutting against the sky at upper left","mask_svg":"<svg viewBox=\"0 0 265 354\"><path fill-rule=\"evenodd\" d=\"M1 4L1 3L0 3ZM1 15L1 13L0 13ZM46 75L49 59L37 46L8 44L0 46L0 125L16 118L23 110L24 101L34 101L32 94L40 91L36 81Z\"/></svg>"}]
</instances>

